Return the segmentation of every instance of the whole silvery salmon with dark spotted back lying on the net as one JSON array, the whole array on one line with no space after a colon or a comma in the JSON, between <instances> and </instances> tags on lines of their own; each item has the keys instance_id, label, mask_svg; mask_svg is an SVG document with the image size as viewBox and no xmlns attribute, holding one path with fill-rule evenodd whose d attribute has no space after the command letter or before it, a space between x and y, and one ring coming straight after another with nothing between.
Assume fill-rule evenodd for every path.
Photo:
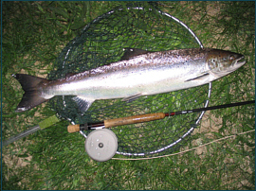
<instances>
[{"instance_id":1,"label":"whole silvery salmon with dark spotted back lying on the net","mask_svg":"<svg viewBox=\"0 0 256 191\"><path fill-rule=\"evenodd\" d=\"M246 62L244 55L214 48L125 48L120 61L65 78L49 80L13 74L25 92L15 112L30 110L54 96L74 96L72 99L85 113L95 100L132 101L139 96L204 85L229 75Z\"/></svg>"}]
</instances>

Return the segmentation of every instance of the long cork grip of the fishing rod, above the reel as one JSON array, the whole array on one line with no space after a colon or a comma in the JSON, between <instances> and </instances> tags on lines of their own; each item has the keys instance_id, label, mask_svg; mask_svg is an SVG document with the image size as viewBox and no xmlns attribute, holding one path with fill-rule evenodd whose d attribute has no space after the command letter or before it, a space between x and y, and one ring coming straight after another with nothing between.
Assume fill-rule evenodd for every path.
<instances>
[{"instance_id":1,"label":"long cork grip of the fishing rod, above the reel","mask_svg":"<svg viewBox=\"0 0 256 191\"><path fill-rule=\"evenodd\" d=\"M165 113L139 114L135 116L104 120L104 126L105 128L111 128L111 127L122 126L122 125L154 121L157 119L163 119L164 117L165 117Z\"/></svg>"}]
</instances>

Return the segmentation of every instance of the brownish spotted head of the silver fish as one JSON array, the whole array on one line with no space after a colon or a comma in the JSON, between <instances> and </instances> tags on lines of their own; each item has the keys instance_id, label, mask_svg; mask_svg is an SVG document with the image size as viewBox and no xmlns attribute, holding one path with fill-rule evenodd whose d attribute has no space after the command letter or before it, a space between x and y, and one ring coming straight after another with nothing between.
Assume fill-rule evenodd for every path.
<instances>
[{"instance_id":1,"label":"brownish spotted head of the silver fish","mask_svg":"<svg viewBox=\"0 0 256 191\"><path fill-rule=\"evenodd\" d=\"M229 75L246 62L244 55L219 49L210 49L207 57L210 71L218 78Z\"/></svg>"}]
</instances>

